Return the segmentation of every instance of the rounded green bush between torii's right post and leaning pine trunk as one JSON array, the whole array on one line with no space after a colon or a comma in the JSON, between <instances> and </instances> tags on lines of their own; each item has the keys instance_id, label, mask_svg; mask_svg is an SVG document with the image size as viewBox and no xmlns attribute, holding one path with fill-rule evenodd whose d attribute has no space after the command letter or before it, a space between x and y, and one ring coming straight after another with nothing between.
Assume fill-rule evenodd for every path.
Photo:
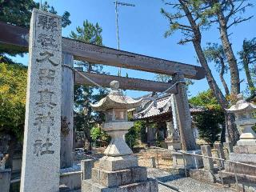
<instances>
[{"instance_id":1,"label":"rounded green bush between torii's right post and leaning pine trunk","mask_svg":"<svg viewBox=\"0 0 256 192\"><path fill-rule=\"evenodd\" d=\"M224 113L212 90L204 91L197 96L190 98L190 104L194 106L204 106L206 111L195 114L194 122L199 130L199 137L210 145L219 140L218 134L221 129L219 125L225 124ZM225 132L222 134L225 137Z\"/></svg>"}]
</instances>

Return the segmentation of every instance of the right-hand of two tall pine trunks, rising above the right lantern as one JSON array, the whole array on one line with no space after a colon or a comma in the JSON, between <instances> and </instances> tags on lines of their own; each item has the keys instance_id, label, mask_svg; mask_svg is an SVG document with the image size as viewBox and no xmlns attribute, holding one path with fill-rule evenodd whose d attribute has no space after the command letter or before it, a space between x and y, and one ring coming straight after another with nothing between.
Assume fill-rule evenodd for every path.
<instances>
[{"instance_id":1,"label":"right-hand of two tall pine trunks, rising above the right lantern","mask_svg":"<svg viewBox=\"0 0 256 192\"><path fill-rule=\"evenodd\" d=\"M214 0L213 2L214 3L212 3L212 6L214 6L215 3L220 3L219 0ZM240 78L239 78L238 63L236 58L234 57L234 52L230 44L229 35L227 33L227 26L226 26L227 21L221 9L218 10L216 14L218 17L219 32L222 40L223 50L226 54L226 58L230 66L231 94L238 95L240 93Z\"/></svg>"}]
</instances>

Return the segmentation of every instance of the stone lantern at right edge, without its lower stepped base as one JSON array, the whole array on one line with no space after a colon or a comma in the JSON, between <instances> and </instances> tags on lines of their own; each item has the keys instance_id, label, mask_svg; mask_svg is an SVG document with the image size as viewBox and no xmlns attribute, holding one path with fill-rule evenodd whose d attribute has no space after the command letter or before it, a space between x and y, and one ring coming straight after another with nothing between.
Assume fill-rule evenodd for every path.
<instances>
[{"instance_id":1,"label":"stone lantern at right edge, without its lower stepped base","mask_svg":"<svg viewBox=\"0 0 256 192\"><path fill-rule=\"evenodd\" d=\"M227 110L229 113L234 113L235 123L241 131L238 146L256 146L256 134L252 130L252 126L256 123L255 110L256 105L246 102L242 94L238 94L238 102Z\"/></svg>"}]
</instances>

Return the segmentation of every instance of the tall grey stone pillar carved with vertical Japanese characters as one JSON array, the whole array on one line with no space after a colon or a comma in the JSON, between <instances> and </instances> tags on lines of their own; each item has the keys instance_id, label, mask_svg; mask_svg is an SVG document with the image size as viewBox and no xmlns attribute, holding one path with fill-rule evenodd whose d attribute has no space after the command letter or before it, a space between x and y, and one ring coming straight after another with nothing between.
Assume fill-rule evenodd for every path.
<instances>
[{"instance_id":1,"label":"tall grey stone pillar carved with vertical Japanese characters","mask_svg":"<svg viewBox=\"0 0 256 192\"><path fill-rule=\"evenodd\" d=\"M62 18L34 9L30 21L21 192L59 190Z\"/></svg>"}]
</instances>

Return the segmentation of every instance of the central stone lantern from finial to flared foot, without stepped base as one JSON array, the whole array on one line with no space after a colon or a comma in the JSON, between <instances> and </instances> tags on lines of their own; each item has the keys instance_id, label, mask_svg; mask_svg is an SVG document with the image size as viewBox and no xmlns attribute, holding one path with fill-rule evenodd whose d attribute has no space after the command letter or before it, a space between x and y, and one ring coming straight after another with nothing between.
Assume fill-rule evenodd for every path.
<instances>
[{"instance_id":1,"label":"central stone lantern from finial to flared foot, without stepped base","mask_svg":"<svg viewBox=\"0 0 256 192\"><path fill-rule=\"evenodd\" d=\"M110 94L106 98L102 98L96 104L91 104L94 110L103 111L106 114L106 122L102 128L110 135L111 142L104 154L113 157L132 154L132 150L123 139L123 135L134 126L134 122L128 122L127 110L139 106L142 99L134 100L124 96L118 90L119 82L117 81L110 82L110 87Z\"/></svg>"}]
</instances>

